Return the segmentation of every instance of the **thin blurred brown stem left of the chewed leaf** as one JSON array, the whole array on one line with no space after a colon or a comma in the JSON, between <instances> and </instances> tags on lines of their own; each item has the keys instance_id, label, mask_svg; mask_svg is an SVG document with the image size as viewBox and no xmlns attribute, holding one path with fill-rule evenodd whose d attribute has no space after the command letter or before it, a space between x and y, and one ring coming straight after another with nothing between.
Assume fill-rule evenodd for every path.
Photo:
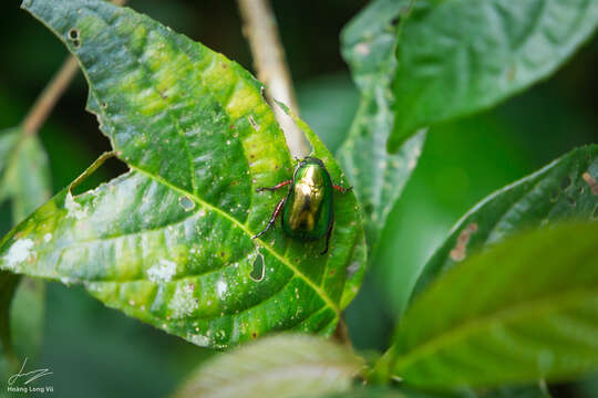
<instances>
[{"instance_id":1,"label":"thin blurred brown stem left of the chewed leaf","mask_svg":"<svg viewBox=\"0 0 598 398\"><path fill-rule=\"evenodd\" d=\"M73 55L70 55L62 64L59 72L52 77L50 83L48 83L38 100L35 100L35 103L23 119L22 126L25 135L32 136L38 133L64 90L69 86L69 83L71 83L78 69L79 65L76 59Z\"/></svg>"}]
</instances>

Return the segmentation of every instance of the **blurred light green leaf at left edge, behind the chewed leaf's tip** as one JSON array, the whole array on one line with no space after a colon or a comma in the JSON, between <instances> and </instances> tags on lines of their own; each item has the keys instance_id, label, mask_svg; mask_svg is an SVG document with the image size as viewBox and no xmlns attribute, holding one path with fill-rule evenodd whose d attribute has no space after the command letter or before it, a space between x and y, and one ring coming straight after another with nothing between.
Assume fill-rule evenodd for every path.
<instances>
[{"instance_id":1,"label":"blurred light green leaf at left edge, behind the chewed leaf's tip","mask_svg":"<svg viewBox=\"0 0 598 398\"><path fill-rule=\"evenodd\" d=\"M0 134L0 201L9 199L13 222L50 197L48 156L38 137L20 128ZM0 271L0 377L37 354L41 343L45 286L42 281Z\"/></svg>"}]
</instances>

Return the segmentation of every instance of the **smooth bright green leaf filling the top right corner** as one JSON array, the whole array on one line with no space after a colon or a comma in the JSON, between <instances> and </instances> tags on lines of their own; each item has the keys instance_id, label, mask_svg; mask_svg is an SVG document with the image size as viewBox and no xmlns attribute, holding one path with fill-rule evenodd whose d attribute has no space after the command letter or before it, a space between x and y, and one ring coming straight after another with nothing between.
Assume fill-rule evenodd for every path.
<instances>
[{"instance_id":1,"label":"smooth bright green leaf filling the top right corner","mask_svg":"<svg viewBox=\"0 0 598 398\"><path fill-rule=\"evenodd\" d=\"M396 49L389 147L546 78L598 23L594 0L417 1Z\"/></svg>"}]
</instances>

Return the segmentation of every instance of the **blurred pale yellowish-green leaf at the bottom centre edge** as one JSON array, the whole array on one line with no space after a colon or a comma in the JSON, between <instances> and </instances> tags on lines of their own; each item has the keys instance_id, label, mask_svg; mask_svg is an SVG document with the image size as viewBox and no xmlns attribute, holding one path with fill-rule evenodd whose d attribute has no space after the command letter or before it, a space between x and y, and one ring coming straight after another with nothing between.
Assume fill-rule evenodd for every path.
<instances>
[{"instance_id":1,"label":"blurred pale yellowish-green leaf at the bottom centre edge","mask_svg":"<svg viewBox=\"0 0 598 398\"><path fill-rule=\"evenodd\" d=\"M216 356L177 398L283 398L346 391L363 366L348 347L305 335L280 335Z\"/></svg>"}]
</instances>

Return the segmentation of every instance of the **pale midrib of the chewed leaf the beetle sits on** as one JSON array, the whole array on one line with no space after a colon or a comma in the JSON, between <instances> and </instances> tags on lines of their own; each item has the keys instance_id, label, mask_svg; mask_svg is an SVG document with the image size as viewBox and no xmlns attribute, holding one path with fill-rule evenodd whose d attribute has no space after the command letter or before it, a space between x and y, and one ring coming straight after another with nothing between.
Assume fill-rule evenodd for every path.
<instances>
[{"instance_id":1,"label":"pale midrib of the chewed leaf the beetle sits on","mask_svg":"<svg viewBox=\"0 0 598 398\"><path fill-rule=\"evenodd\" d=\"M176 192L179 192L179 193L193 199L197 205L204 207L206 210L214 211L214 212L218 213L219 216L226 218L228 221L234 223L237 228L241 229L248 237L254 237L255 235L255 232L250 231L244 223L241 223L240 221L238 221L237 219L235 219L234 217L231 217L227 212L220 210L219 208L204 201L197 195L187 192L184 189L181 189L181 188L172 185L166 179L164 179L164 178L162 178L159 176L153 175L152 172L146 171L146 170L144 170L144 169L137 167L137 166L134 166L134 165L131 165L131 164L128 166L131 167L131 169L136 170L140 174L143 174L143 175L147 176L148 178L154 179L158 184L162 184L162 185L166 186L168 189L172 189L172 190L174 190ZM264 247L278 261L280 261L282 264L285 264L289 270L291 270L295 273L295 275L302 279L316 293L318 293L318 295L320 295L320 297L324 301L326 305L328 305L330 308L332 308L337 313L337 315L340 314L340 308L338 307L338 305L334 302L332 302L332 300L328 296L328 294L326 294L326 292L323 292L321 290L320 286L318 286L316 283L313 283L301 271L299 271L299 269L297 269L287 258L280 255L276 250L274 250L274 248L271 248L264 240L261 240L259 238L256 238L255 240L258 241L260 243L260 245Z\"/></svg>"}]
</instances>

